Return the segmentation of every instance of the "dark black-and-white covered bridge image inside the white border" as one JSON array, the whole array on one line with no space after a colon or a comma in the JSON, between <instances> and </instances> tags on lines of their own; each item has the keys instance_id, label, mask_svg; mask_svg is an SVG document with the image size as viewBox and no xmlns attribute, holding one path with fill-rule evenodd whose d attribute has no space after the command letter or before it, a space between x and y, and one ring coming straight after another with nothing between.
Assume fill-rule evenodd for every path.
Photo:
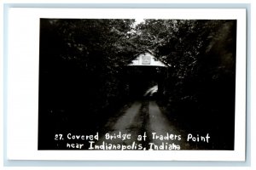
<instances>
[{"instance_id":1,"label":"dark black-and-white covered bridge image inside the white border","mask_svg":"<svg viewBox=\"0 0 256 170\"><path fill-rule=\"evenodd\" d=\"M234 150L237 20L39 20L38 150Z\"/></svg>"}]
</instances>

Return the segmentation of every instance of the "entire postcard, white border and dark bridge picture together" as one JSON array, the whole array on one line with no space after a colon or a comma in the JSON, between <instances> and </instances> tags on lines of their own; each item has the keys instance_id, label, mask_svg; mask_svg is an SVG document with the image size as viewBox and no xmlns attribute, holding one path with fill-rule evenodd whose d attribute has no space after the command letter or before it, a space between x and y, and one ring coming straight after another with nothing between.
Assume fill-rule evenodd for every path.
<instances>
[{"instance_id":1,"label":"entire postcard, white border and dark bridge picture together","mask_svg":"<svg viewBox=\"0 0 256 170\"><path fill-rule=\"evenodd\" d=\"M244 8L10 8L7 157L245 161L246 19Z\"/></svg>"}]
</instances>

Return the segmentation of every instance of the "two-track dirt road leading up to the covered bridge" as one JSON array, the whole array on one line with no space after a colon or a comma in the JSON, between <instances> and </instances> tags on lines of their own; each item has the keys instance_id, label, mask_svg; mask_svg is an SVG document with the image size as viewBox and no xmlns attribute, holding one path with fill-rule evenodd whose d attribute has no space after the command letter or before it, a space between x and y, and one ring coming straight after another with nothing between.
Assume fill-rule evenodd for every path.
<instances>
[{"instance_id":1,"label":"two-track dirt road leading up to the covered bridge","mask_svg":"<svg viewBox=\"0 0 256 170\"><path fill-rule=\"evenodd\" d=\"M122 150L186 150L183 134L152 100L135 101L117 117L111 117L96 144ZM104 146L104 147L105 147ZM110 147L111 146L111 147ZM128 148L127 148L128 147Z\"/></svg>"}]
</instances>

